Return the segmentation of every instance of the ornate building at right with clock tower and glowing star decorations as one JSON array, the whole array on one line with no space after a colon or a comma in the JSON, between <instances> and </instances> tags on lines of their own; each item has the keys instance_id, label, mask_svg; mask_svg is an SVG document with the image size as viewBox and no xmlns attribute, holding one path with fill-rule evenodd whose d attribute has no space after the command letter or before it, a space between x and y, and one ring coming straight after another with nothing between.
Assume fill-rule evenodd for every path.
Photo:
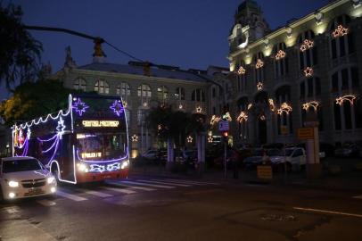
<instances>
[{"instance_id":1,"label":"ornate building at right with clock tower and glowing star decorations","mask_svg":"<svg viewBox=\"0 0 362 241\"><path fill-rule=\"evenodd\" d=\"M240 4L228 37L234 138L295 143L312 116L323 142L362 140L361 15L360 0L338 0L270 31L255 1Z\"/></svg>"}]
</instances>

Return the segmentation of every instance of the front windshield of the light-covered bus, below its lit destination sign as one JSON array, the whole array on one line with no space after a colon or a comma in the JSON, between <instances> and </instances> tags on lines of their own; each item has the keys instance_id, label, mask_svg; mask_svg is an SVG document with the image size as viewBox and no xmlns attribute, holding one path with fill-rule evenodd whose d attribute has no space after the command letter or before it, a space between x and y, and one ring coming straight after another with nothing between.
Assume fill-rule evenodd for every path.
<instances>
[{"instance_id":1,"label":"front windshield of the light-covered bus, below its lit destination sign","mask_svg":"<svg viewBox=\"0 0 362 241\"><path fill-rule=\"evenodd\" d=\"M79 160L107 161L127 155L127 138L122 133L77 134Z\"/></svg>"}]
</instances>

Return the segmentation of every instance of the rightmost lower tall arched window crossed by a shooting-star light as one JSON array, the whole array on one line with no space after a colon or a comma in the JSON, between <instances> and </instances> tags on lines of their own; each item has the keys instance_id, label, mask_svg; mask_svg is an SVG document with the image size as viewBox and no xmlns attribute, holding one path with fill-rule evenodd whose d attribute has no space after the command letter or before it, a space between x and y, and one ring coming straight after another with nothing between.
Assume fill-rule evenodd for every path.
<instances>
[{"instance_id":1,"label":"rightmost lower tall arched window crossed by a shooting-star light","mask_svg":"<svg viewBox=\"0 0 362 241\"><path fill-rule=\"evenodd\" d=\"M358 69L355 67L333 73L331 92L336 97L333 102L334 129L362 128L362 104L354 95L358 85Z\"/></svg>"}]
</instances>

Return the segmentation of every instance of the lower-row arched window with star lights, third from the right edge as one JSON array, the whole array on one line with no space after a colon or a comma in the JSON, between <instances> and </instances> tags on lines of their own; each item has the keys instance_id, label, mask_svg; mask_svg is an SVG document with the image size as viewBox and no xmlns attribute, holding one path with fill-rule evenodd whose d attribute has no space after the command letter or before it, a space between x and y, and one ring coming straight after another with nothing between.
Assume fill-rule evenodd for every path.
<instances>
[{"instance_id":1,"label":"lower-row arched window with star lights, third from the right edge","mask_svg":"<svg viewBox=\"0 0 362 241\"><path fill-rule=\"evenodd\" d=\"M284 104L286 104L284 106ZM277 114L278 134L282 134L282 126L286 127L289 134L292 134L292 111L287 106L291 106L291 87L283 86L276 90L276 105L279 107Z\"/></svg>"}]
</instances>

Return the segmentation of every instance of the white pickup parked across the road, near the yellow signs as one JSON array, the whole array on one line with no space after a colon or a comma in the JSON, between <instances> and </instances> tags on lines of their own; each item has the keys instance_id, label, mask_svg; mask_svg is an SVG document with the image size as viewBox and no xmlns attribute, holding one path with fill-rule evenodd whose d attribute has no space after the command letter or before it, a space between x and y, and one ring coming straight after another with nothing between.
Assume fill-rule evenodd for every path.
<instances>
[{"instance_id":1,"label":"white pickup parked across the road, near the yellow signs","mask_svg":"<svg viewBox=\"0 0 362 241\"><path fill-rule=\"evenodd\" d=\"M275 170L284 170L284 162L288 171L300 170L306 165L306 152L300 147L286 148L280 155L271 156L270 161Z\"/></svg>"}]
</instances>

